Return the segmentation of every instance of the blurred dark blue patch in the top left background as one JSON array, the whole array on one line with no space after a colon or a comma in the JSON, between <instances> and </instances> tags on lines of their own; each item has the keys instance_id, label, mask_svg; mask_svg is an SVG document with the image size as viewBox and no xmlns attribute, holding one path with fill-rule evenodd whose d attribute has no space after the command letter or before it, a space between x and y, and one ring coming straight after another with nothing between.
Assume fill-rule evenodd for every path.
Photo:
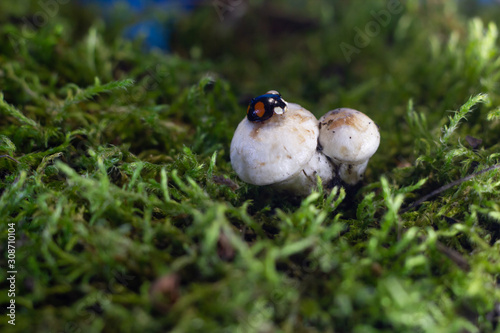
<instances>
[{"instance_id":1,"label":"blurred dark blue patch in the top left background","mask_svg":"<svg viewBox=\"0 0 500 333\"><path fill-rule=\"evenodd\" d=\"M159 48L164 51L169 50L170 22L160 22L147 15L148 10L168 11L173 8L179 12L188 12L196 7L203 0L79 0L83 5L99 5L102 7L103 16L106 18L109 11L117 3L127 4L135 13L138 23L128 27L124 31L124 37L134 39L139 36L144 38L146 49Z\"/></svg>"}]
</instances>

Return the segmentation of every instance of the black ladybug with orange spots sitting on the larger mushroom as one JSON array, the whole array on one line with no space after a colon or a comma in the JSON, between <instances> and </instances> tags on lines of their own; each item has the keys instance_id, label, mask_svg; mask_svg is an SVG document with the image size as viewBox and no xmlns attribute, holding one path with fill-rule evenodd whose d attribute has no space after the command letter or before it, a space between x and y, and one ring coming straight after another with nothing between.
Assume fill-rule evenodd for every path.
<instances>
[{"instance_id":1,"label":"black ladybug with orange spots sitting on the larger mushroom","mask_svg":"<svg viewBox=\"0 0 500 333\"><path fill-rule=\"evenodd\" d=\"M252 122L262 122L271 118L275 113L283 114L287 110L287 103L276 90L252 98L247 108L247 118Z\"/></svg>"}]
</instances>

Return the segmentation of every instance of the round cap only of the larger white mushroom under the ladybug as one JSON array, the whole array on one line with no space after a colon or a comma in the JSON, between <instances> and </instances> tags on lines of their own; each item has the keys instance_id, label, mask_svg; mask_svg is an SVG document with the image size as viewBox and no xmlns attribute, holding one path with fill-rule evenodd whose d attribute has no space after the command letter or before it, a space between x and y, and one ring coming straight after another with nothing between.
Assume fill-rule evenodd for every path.
<instances>
[{"instance_id":1,"label":"round cap only of the larger white mushroom under the ladybug","mask_svg":"<svg viewBox=\"0 0 500 333\"><path fill-rule=\"evenodd\" d=\"M316 117L295 103L288 110L255 123L246 117L231 141L231 164L238 176L254 185L283 181L301 170L316 151Z\"/></svg>"}]
</instances>

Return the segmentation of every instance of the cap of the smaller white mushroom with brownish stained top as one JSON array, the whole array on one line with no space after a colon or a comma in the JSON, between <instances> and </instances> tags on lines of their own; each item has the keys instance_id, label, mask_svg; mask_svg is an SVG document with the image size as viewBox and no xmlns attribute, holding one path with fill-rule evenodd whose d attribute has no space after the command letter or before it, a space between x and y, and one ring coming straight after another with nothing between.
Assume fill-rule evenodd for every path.
<instances>
[{"instance_id":1,"label":"cap of the smaller white mushroom with brownish stained top","mask_svg":"<svg viewBox=\"0 0 500 333\"><path fill-rule=\"evenodd\" d=\"M380 144L375 122L354 109L328 111L320 118L319 128L323 153L335 161L363 163L375 154Z\"/></svg>"}]
</instances>

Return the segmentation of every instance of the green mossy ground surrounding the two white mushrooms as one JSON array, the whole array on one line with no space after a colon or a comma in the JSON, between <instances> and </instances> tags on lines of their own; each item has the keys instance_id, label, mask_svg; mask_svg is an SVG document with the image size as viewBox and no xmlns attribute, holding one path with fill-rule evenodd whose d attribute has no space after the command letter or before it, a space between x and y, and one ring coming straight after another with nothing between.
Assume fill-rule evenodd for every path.
<instances>
[{"instance_id":1,"label":"green mossy ground surrounding the two white mushrooms","mask_svg":"<svg viewBox=\"0 0 500 333\"><path fill-rule=\"evenodd\" d=\"M498 163L496 6L404 1L347 61L387 1L221 3L156 13L163 54L119 37L125 9L27 29L39 2L2 1L0 330L500 332L498 169L402 210ZM378 123L357 195L238 180L232 133L270 89Z\"/></svg>"}]
</instances>

